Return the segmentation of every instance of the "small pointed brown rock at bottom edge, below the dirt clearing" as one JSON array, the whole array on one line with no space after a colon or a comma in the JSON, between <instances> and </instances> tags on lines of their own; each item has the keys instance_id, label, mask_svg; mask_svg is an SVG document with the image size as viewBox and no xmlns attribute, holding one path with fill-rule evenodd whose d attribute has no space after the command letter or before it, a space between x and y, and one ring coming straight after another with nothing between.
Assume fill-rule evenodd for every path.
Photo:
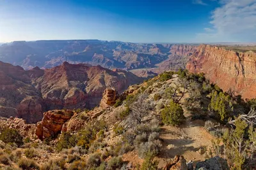
<instances>
[{"instance_id":1,"label":"small pointed brown rock at bottom edge, below the dirt clearing","mask_svg":"<svg viewBox=\"0 0 256 170\"><path fill-rule=\"evenodd\" d=\"M166 164L164 170L188 170L186 159L183 156L176 155L172 162Z\"/></svg>"}]
</instances>

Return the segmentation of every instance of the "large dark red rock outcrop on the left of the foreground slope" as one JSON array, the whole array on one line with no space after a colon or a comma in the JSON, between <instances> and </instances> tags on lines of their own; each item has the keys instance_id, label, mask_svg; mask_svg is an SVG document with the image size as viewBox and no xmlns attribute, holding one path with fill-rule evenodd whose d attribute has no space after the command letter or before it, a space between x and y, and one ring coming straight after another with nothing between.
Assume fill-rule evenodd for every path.
<instances>
[{"instance_id":1,"label":"large dark red rock outcrop on the left of the foreground slope","mask_svg":"<svg viewBox=\"0 0 256 170\"><path fill-rule=\"evenodd\" d=\"M36 136L43 140L60 134L63 124L74 115L71 110L52 110L44 113L42 122L36 124ZM67 127L65 127L67 128Z\"/></svg>"}]
</instances>

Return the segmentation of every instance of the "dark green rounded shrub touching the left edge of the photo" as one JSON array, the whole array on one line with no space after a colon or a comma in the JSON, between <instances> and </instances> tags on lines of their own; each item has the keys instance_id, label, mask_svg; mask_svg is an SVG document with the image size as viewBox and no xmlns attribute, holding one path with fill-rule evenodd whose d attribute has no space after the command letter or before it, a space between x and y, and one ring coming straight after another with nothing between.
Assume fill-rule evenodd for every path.
<instances>
[{"instance_id":1,"label":"dark green rounded shrub touching the left edge of the photo","mask_svg":"<svg viewBox=\"0 0 256 170\"><path fill-rule=\"evenodd\" d=\"M18 147L23 145L23 137L16 129L4 129L0 134L0 140L4 143L15 143Z\"/></svg>"}]
</instances>

